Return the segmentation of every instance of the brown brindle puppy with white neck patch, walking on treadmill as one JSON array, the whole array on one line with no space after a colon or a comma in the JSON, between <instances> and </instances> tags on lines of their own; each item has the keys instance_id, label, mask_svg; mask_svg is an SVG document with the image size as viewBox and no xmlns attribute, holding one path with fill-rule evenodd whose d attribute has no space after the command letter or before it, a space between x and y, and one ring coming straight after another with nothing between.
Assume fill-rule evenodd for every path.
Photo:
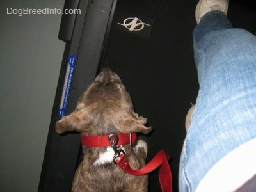
<instances>
[{"instance_id":1,"label":"brown brindle puppy with white neck patch, walking on treadmill","mask_svg":"<svg viewBox=\"0 0 256 192\"><path fill-rule=\"evenodd\" d=\"M78 131L100 136L112 133L143 132L152 127L134 112L129 93L120 78L104 68L77 102L75 111L56 122L56 131ZM123 145L131 168L145 165L147 144L139 140L135 147ZM148 191L148 175L133 176L113 163L113 149L83 146L83 161L74 175L72 191Z\"/></svg>"}]
</instances>

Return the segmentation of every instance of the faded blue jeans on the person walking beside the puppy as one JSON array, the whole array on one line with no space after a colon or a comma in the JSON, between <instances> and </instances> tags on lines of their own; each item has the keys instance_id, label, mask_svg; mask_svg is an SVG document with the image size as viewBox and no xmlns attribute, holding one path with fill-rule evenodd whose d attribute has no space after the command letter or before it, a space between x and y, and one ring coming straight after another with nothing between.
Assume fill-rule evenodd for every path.
<instances>
[{"instance_id":1,"label":"faded blue jeans on the person walking beside the puppy","mask_svg":"<svg viewBox=\"0 0 256 192\"><path fill-rule=\"evenodd\" d=\"M193 40L200 90L180 157L180 191L196 191L214 164L256 138L256 37L212 11Z\"/></svg>"}]
</instances>

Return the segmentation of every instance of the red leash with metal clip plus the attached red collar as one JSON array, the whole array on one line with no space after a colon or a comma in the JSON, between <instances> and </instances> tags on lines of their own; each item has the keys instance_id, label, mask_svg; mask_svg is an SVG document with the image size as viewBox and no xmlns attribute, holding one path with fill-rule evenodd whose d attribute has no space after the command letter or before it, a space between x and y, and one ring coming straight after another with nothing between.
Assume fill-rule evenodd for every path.
<instances>
[{"instance_id":1,"label":"red leash with metal clip plus the attached red collar","mask_svg":"<svg viewBox=\"0 0 256 192\"><path fill-rule=\"evenodd\" d=\"M168 163L170 156L161 150L148 164L139 170L132 170L125 152L120 145L132 144L136 141L136 133L132 134L110 134L109 136L85 136L81 134L82 145L88 147L108 147L109 143L115 151L113 162L130 175L146 175L161 166L159 170L159 182L163 192L172 192L172 172ZM119 144L119 145L118 145Z\"/></svg>"}]
</instances>

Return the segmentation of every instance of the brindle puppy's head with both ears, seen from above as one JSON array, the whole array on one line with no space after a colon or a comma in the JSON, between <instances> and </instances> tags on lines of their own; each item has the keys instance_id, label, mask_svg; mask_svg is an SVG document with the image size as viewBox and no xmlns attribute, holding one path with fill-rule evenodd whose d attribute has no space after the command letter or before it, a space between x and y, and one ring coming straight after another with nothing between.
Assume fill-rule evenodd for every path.
<instances>
[{"instance_id":1,"label":"brindle puppy's head with both ears, seen from above","mask_svg":"<svg viewBox=\"0 0 256 192\"><path fill-rule=\"evenodd\" d=\"M146 119L134 112L131 97L118 75L104 68L77 102L75 111L56 122L56 131L86 135L143 132Z\"/></svg>"}]
</instances>

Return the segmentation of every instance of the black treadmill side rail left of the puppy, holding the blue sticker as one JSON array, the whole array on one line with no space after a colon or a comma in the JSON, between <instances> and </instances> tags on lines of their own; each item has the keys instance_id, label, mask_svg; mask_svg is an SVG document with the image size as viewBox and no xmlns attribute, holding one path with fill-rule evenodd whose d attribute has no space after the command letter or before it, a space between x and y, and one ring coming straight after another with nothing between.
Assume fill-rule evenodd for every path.
<instances>
[{"instance_id":1,"label":"black treadmill side rail left of the puppy, holding the blue sticker","mask_svg":"<svg viewBox=\"0 0 256 192\"><path fill-rule=\"evenodd\" d=\"M68 95L67 114L76 108L80 95L95 78L100 55L104 49L103 45L108 40L106 34L109 33L108 26L111 26L109 16L113 15L115 4L116 1L110 0L80 1L78 8L81 9L81 15L76 16L75 23L70 22L74 25L74 29L63 56L38 191L70 191L71 189L81 154L80 137L76 132L67 132L60 136L55 131L55 122L60 120L58 112L68 58L76 56L76 67ZM70 31L68 34L61 32L63 31L60 31L61 36L65 34L63 40L68 42Z\"/></svg>"}]
</instances>

